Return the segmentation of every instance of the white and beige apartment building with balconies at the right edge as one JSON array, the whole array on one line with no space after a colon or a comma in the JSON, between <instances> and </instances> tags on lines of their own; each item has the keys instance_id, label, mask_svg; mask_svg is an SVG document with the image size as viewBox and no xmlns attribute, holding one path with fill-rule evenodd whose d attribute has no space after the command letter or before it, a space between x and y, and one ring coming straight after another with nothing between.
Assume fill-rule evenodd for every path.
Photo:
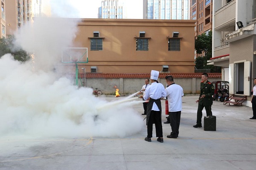
<instances>
[{"instance_id":1,"label":"white and beige apartment building with balconies at the right edge","mask_svg":"<svg viewBox=\"0 0 256 170\"><path fill-rule=\"evenodd\" d=\"M222 79L230 82L230 95L247 96L256 77L256 0L213 2L212 58L209 64L222 67Z\"/></svg>"}]
</instances>

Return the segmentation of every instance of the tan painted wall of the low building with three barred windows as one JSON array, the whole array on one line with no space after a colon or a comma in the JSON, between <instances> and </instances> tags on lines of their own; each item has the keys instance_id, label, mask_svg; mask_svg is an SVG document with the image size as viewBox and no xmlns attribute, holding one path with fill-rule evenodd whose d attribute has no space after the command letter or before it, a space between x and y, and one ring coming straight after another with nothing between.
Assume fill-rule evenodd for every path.
<instances>
[{"instance_id":1,"label":"tan painted wall of the low building with three barred windows","mask_svg":"<svg viewBox=\"0 0 256 170\"><path fill-rule=\"evenodd\" d=\"M127 19L83 19L73 47L88 48L88 63L79 64L79 69L90 72L97 66L102 73L150 73L162 71L168 65L170 73L194 73L194 20L127 20ZM103 51L90 51L93 31L104 37ZM136 51L139 31L150 37L148 51ZM178 31L180 51L168 51L167 36Z\"/></svg>"}]
</instances>

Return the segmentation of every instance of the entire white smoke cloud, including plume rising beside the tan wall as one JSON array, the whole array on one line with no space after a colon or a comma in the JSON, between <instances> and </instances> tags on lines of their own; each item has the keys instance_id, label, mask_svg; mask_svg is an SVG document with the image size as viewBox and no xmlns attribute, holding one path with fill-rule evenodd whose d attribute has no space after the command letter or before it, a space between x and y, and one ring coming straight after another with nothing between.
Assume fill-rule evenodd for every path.
<instances>
[{"instance_id":1,"label":"entire white smoke cloud, including plume rising beside the tan wall","mask_svg":"<svg viewBox=\"0 0 256 170\"><path fill-rule=\"evenodd\" d=\"M36 18L16 34L16 44L33 52L35 60L21 63L10 54L0 58L0 136L113 137L142 129L143 118L131 107L136 102L116 105L52 71L62 48L73 45L76 24Z\"/></svg>"}]
</instances>

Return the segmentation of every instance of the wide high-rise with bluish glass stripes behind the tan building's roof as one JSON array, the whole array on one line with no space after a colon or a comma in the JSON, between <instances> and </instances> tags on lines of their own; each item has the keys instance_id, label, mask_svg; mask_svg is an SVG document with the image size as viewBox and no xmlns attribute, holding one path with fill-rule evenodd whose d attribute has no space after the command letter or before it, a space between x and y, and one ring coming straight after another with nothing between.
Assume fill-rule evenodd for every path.
<instances>
[{"instance_id":1,"label":"wide high-rise with bluish glass stripes behind the tan building's roof","mask_svg":"<svg viewBox=\"0 0 256 170\"><path fill-rule=\"evenodd\" d=\"M143 0L143 19L189 20L189 0Z\"/></svg>"}]
</instances>

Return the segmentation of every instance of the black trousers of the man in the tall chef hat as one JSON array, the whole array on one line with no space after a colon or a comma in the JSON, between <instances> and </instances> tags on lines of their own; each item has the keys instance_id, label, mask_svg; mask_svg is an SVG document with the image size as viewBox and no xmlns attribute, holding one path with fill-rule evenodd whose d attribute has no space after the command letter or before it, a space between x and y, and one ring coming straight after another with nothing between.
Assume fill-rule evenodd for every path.
<instances>
[{"instance_id":1,"label":"black trousers of the man in the tall chef hat","mask_svg":"<svg viewBox=\"0 0 256 170\"><path fill-rule=\"evenodd\" d=\"M155 124L156 127L156 135L157 137L163 137L163 127L162 127L162 122L160 121L161 113L160 111L151 111L150 116L148 119L148 138L152 137L152 132L153 132L153 124Z\"/></svg>"}]
</instances>

